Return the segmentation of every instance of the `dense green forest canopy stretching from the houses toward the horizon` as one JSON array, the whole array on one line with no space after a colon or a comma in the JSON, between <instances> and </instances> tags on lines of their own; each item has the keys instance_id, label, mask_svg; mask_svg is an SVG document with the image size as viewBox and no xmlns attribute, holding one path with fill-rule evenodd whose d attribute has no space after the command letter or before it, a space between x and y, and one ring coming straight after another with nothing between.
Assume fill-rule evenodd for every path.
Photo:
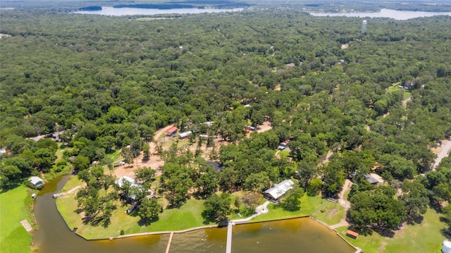
<instances>
[{"instance_id":1,"label":"dense green forest canopy stretching from the houses toward the horizon","mask_svg":"<svg viewBox=\"0 0 451 253\"><path fill-rule=\"evenodd\" d=\"M194 132L193 143L199 134L231 142L211 157L221 173L176 147L164 154L161 187L175 206L193 187L203 197L258 191L295 173L301 187L326 196L357 173L357 227L399 223L357 223L375 206L369 199L381 202L375 214L394 209L400 221L424 214L409 198L450 200L449 160L428 172L429 147L451 135L450 16L371 19L364 34L361 18L293 10L180 17L2 11L0 33L11 35L0 40L4 187L53 166L55 144L29 137L61 132L66 159L75 156L75 170L101 189L113 180L88 173L90 163L108 164L106 154L122 147L132 159L157 129L175 124ZM214 125L199 126L206 121ZM272 130L245 138L245 126L264 121ZM292 163L274 156L284 140ZM318 166L328 151L330 162ZM390 185L367 185L371 168ZM322 185L311 186L318 175ZM396 188L416 194L395 201Z\"/></svg>"}]
</instances>

